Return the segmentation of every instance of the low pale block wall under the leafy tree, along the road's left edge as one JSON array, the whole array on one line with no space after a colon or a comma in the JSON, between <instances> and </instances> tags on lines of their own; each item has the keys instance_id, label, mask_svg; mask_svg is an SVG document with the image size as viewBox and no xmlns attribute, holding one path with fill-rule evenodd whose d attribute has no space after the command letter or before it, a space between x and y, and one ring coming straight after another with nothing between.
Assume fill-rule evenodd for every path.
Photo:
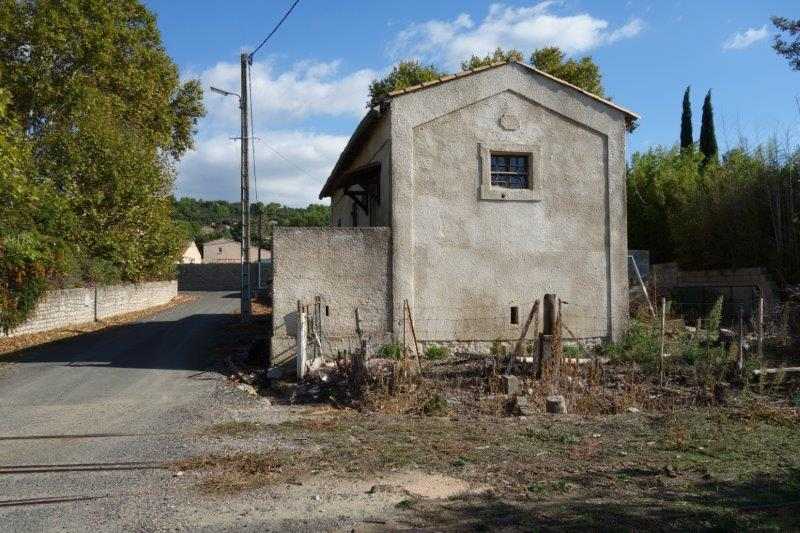
<instances>
[{"instance_id":1,"label":"low pale block wall under the leafy tree, along the road's left edge","mask_svg":"<svg viewBox=\"0 0 800 533\"><path fill-rule=\"evenodd\" d=\"M31 317L8 336L41 333L141 311L168 303L177 294L177 281L48 291Z\"/></svg>"}]
</instances>

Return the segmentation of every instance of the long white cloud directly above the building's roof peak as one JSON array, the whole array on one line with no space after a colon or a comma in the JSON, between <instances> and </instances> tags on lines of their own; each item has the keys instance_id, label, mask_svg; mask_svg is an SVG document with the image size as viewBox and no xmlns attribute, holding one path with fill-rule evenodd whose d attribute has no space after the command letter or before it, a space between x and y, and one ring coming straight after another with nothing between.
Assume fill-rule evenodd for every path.
<instances>
[{"instance_id":1,"label":"long white cloud directly above the building's roof peak","mask_svg":"<svg viewBox=\"0 0 800 533\"><path fill-rule=\"evenodd\" d=\"M607 20L587 13L558 15L552 11L556 3L546 1L530 7L492 4L479 24L467 14L451 21L415 23L397 35L389 53L395 59L411 55L440 61L455 70L472 54L486 55L498 46L525 53L542 46L558 46L567 53L585 52L634 37L644 28L639 19L610 29Z\"/></svg>"}]
</instances>

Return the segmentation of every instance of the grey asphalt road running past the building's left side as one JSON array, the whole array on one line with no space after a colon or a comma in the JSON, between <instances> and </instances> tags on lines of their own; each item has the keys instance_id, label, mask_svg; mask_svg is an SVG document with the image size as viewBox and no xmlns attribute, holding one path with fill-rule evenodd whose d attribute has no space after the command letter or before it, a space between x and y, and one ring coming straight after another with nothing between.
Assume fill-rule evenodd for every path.
<instances>
[{"instance_id":1,"label":"grey asphalt road running past the building's left side","mask_svg":"<svg viewBox=\"0 0 800 533\"><path fill-rule=\"evenodd\" d=\"M172 474L157 467L190 454L191 432L214 420L208 348L238 309L235 293L193 295L3 359L0 530L158 529Z\"/></svg>"}]
</instances>

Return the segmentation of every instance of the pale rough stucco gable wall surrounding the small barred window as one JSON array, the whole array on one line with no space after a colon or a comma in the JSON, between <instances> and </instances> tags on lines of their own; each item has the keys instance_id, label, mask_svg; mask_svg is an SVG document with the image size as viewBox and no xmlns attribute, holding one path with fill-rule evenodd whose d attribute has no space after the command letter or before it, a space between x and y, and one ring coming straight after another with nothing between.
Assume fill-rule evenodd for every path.
<instances>
[{"instance_id":1,"label":"pale rough stucco gable wall surrounding the small barred window","mask_svg":"<svg viewBox=\"0 0 800 533\"><path fill-rule=\"evenodd\" d=\"M628 312L625 117L509 64L392 99L394 316L426 340L514 337L547 292L580 337ZM515 130L500 118L518 119ZM479 144L539 147L540 200L481 200ZM395 333L402 326L395 324Z\"/></svg>"}]
</instances>

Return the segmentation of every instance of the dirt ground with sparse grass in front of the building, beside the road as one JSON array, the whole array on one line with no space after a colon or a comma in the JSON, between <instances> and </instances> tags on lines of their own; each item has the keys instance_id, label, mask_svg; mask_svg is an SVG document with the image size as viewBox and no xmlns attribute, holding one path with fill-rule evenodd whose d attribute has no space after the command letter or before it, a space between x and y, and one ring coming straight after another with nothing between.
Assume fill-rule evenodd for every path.
<instances>
[{"instance_id":1,"label":"dirt ground with sparse grass in front of the building, beside the road","mask_svg":"<svg viewBox=\"0 0 800 533\"><path fill-rule=\"evenodd\" d=\"M209 429L250 443L268 435L267 445L173 468L188 490L237 506L253 527L800 527L800 411L787 401L754 388L722 405L688 388L618 383L619 369L605 371L602 392L570 396L583 414L544 414L526 391L536 412L519 416L483 360L426 362L414 390L358 409L335 387L273 382L262 390L270 409L296 409L291 416ZM268 516L249 503L264 498Z\"/></svg>"}]
</instances>

